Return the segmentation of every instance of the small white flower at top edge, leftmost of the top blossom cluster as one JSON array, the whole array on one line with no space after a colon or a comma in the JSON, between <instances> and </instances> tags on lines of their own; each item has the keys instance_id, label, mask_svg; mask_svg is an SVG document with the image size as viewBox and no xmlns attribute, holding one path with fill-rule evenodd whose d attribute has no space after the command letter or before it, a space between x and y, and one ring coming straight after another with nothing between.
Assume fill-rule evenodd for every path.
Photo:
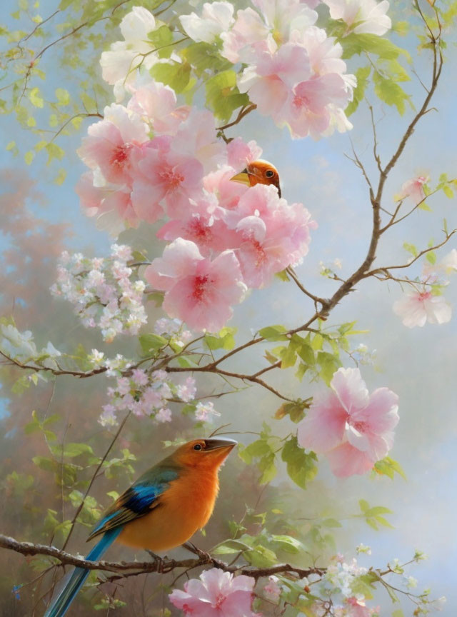
<instances>
[{"instance_id":1,"label":"small white flower at top edge, leftmost of the top blossom cluster","mask_svg":"<svg viewBox=\"0 0 457 617\"><path fill-rule=\"evenodd\" d=\"M214 43L216 37L229 30L233 24L233 4L205 2L201 17L195 13L179 18L184 31L193 41Z\"/></svg>"}]
</instances>

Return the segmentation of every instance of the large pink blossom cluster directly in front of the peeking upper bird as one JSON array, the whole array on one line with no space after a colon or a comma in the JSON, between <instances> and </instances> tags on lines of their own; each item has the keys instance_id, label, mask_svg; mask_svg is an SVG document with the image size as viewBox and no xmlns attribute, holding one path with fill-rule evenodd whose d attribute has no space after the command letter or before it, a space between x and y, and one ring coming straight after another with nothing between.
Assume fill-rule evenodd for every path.
<instances>
[{"instance_id":1,"label":"large pink blossom cluster directly in front of the peeking upper bird","mask_svg":"<svg viewBox=\"0 0 457 617\"><path fill-rule=\"evenodd\" d=\"M132 91L83 140L91 171L77 189L81 202L115 232L167 217L157 235L171 244L146 280L165 292L170 317L218 331L248 287L303 259L315 223L273 186L231 182L261 154L254 142L219 143L212 114L176 106L168 86L149 81Z\"/></svg>"}]
</instances>

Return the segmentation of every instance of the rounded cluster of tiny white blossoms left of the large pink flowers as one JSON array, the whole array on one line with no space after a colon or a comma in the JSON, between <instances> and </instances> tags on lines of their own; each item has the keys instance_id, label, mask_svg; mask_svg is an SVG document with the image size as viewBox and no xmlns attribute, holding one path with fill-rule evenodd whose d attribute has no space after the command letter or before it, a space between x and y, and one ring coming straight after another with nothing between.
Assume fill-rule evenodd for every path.
<instances>
[{"instance_id":1,"label":"rounded cluster of tiny white blossoms left of the large pink flowers","mask_svg":"<svg viewBox=\"0 0 457 617\"><path fill-rule=\"evenodd\" d=\"M146 323L144 281L127 266L129 246L113 244L111 256L90 259L80 253L61 255L54 296L74 304L86 328L101 328L105 341L120 333L136 335Z\"/></svg>"}]
</instances>

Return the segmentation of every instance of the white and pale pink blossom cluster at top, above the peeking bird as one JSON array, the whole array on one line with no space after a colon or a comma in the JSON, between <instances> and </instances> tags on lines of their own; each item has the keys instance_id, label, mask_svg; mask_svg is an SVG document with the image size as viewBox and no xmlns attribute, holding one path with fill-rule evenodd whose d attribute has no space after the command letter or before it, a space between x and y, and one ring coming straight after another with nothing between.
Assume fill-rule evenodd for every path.
<instances>
[{"instance_id":1,"label":"white and pale pink blossom cluster at top, above the peeking bird","mask_svg":"<svg viewBox=\"0 0 457 617\"><path fill-rule=\"evenodd\" d=\"M300 0L253 0L257 11L232 11L219 2L205 4L202 15L181 17L194 40L224 41L221 54L233 64L247 64L238 76L238 88L264 116L288 126L294 138L352 128L344 108L352 99L356 79L346 74L341 45L314 24L317 13ZM218 6L216 6L218 5ZM224 30L222 27L224 26Z\"/></svg>"}]
</instances>

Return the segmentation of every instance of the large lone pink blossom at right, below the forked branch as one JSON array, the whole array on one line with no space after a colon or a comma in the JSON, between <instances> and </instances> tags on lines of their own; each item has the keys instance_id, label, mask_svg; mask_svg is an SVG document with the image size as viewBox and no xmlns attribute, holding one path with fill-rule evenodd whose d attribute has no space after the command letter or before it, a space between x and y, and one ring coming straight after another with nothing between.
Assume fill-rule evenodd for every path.
<instances>
[{"instance_id":1,"label":"large lone pink blossom at right, below the forked branch","mask_svg":"<svg viewBox=\"0 0 457 617\"><path fill-rule=\"evenodd\" d=\"M398 396L388 388L369 395L358 368L339 368L330 386L298 425L298 443L325 453L336 476L366 473L393 445Z\"/></svg>"}]
</instances>

